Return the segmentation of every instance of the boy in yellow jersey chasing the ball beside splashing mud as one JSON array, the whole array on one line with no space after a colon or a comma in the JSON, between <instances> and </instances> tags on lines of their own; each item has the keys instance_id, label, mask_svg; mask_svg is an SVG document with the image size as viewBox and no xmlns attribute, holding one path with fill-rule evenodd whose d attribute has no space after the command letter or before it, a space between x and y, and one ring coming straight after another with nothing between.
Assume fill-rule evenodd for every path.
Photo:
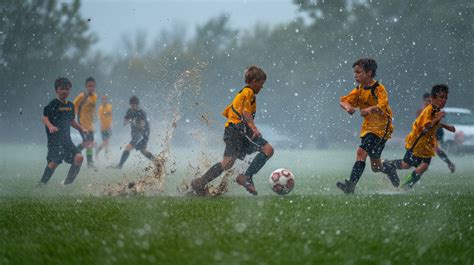
<instances>
[{"instance_id":1,"label":"boy in yellow jersey chasing the ball beside splashing mud","mask_svg":"<svg viewBox=\"0 0 474 265\"><path fill-rule=\"evenodd\" d=\"M235 96L222 113L227 118L224 130L225 151L221 162L214 164L202 177L191 182L191 187L198 195L206 195L206 185L225 170L230 169L235 160L243 160L246 155L259 152L245 174L237 176L236 181L249 193L257 195L253 176L273 155L273 147L263 139L254 123L257 111L256 95L263 88L267 79L265 72L250 66L245 70L245 87Z\"/></svg>"}]
</instances>

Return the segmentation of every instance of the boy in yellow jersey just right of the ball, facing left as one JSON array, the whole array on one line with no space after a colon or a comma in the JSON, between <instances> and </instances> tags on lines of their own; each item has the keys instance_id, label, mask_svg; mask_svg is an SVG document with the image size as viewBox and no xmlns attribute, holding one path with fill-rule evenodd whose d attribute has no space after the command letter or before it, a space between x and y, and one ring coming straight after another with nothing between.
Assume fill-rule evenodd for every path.
<instances>
[{"instance_id":1,"label":"boy in yellow jersey just right of the ball, facing left","mask_svg":"<svg viewBox=\"0 0 474 265\"><path fill-rule=\"evenodd\" d=\"M396 174L388 174L389 171L394 171L393 167L382 163L380 159L385 142L393 132L393 126L387 91L382 84L374 80L377 63L374 59L363 58L357 60L352 68L354 78L359 85L348 95L341 97L340 105L350 115L354 114L355 108L360 109L360 115L364 117L360 133L362 143L357 149L356 162L352 167L349 180L337 182L336 186L344 193L353 193L364 172L365 160L368 156L372 171L387 173L393 186L398 187L400 180Z\"/></svg>"}]
</instances>

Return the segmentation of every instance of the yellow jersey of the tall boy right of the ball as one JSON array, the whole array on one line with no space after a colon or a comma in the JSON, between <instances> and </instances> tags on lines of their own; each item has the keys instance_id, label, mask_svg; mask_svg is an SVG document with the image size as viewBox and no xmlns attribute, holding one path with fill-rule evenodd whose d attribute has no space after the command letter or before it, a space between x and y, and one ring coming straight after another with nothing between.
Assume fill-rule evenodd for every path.
<instances>
[{"instance_id":1,"label":"yellow jersey of the tall boy right of the ball","mask_svg":"<svg viewBox=\"0 0 474 265\"><path fill-rule=\"evenodd\" d=\"M378 82L374 80L371 86ZM341 97L342 102L349 103L354 108L365 109L377 105L382 111L372 112L364 117L360 137L364 137L368 133L373 133L380 138L389 139L393 132L392 109L388 104L388 96L385 87L378 83L374 90L375 96L372 94L370 87L362 85L354 88L349 94Z\"/></svg>"}]
</instances>

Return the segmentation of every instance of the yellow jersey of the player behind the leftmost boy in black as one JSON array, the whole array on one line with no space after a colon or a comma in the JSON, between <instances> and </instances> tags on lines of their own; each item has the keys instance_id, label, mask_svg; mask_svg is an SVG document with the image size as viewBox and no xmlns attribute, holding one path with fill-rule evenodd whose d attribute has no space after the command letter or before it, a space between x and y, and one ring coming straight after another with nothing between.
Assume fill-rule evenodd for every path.
<instances>
[{"instance_id":1,"label":"yellow jersey of the player behind the leftmost boy in black","mask_svg":"<svg viewBox=\"0 0 474 265\"><path fill-rule=\"evenodd\" d=\"M78 122L88 131L94 131L95 106L97 103L97 94L94 93L85 96L85 93L80 93L74 99L74 108L78 117Z\"/></svg>"}]
</instances>

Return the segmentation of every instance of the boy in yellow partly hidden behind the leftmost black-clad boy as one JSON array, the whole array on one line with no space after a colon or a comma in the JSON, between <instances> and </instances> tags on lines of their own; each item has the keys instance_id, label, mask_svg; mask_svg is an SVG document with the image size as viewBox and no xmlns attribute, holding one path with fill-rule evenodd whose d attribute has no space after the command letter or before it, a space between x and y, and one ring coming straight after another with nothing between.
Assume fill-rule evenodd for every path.
<instances>
[{"instance_id":1,"label":"boy in yellow partly hidden behind the leftmost black-clad boy","mask_svg":"<svg viewBox=\"0 0 474 265\"><path fill-rule=\"evenodd\" d=\"M82 151L86 148L87 166L96 170L92 160L92 147L94 145L94 118L97 94L95 92L96 82L93 77L86 79L86 91L80 93L74 99L74 107L77 122L87 129L88 133L81 133L82 143L77 148Z\"/></svg>"}]
</instances>

